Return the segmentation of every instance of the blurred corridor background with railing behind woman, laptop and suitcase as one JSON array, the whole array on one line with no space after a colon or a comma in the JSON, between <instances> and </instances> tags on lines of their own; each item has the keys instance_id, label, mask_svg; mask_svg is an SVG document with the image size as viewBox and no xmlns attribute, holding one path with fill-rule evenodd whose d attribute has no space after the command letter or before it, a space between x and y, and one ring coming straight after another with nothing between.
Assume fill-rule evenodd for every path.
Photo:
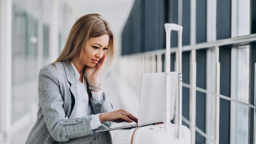
<instances>
[{"instance_id":1,"label":"blurred corridor background with railing behind woman, laptop and suitcase","mask_svg":"<svg viewBox=\"0 0 256 144\"><path fill-rule=\"evenodd\" d=\"M36 121L39 70L56 60L79 17L99 13L119 47L104 74L114 109L138 116L141 74L165 71L164 23L177 23L191 143L255 144L255 8L255 0L0 0L0 143L25 143ZM171 71L177 40L172 32Z\"/></svg>"}]
</instances>

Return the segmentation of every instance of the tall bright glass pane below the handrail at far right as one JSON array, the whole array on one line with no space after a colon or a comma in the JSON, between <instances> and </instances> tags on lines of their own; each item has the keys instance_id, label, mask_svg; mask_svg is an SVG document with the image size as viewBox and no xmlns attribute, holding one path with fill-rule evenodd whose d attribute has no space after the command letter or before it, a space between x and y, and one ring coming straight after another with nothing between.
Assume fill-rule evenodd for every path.
<instances>
[{"instance_id":1,"label":"tall bright glass pane below the handrail at far right","mask_svg":"<svg viewBox=\"0 0 256 144\"><path fill-rule=\"evenodd\" d=\"M231 50L231 98L249 103L249 46ZM230 143L246 143L248 140L248 107L231 102Z\"/></svg>"}]
</instances>

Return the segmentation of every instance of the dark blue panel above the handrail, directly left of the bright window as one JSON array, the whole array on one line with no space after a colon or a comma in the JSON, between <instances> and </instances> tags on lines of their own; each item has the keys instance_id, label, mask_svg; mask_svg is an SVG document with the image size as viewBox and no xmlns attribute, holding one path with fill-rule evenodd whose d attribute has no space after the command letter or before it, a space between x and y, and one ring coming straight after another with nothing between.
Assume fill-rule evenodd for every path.
<instances>
[{"instance_id":1,"label":"dark blue panel above the handrail, directly left of the bright window","mask_svg":"<svg viewBox=\"0 0 256 144\"><path fill-rule=\"evenodd\" d=\"M231 37L231 0L217 0L216 39Z\"/></svg>"}]
</instances>

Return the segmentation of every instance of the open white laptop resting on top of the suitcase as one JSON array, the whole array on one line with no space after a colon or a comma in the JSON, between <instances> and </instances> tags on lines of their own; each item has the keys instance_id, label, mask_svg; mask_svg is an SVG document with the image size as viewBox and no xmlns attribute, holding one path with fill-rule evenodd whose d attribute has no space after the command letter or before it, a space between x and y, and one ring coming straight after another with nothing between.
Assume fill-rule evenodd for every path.
<instances>
[{"instance_id":1,"label":"open white laptop resting on top of the suitcase","mask_svg":"<svg viewBox=\"0 0 256 144\"><path fill-rule=\"evenodd\" d=\"M112 131L140 127L165 121L165 75L166 73L147 73L141 78L140 105L138 124L98 130L96 132ZM178 73L171 72L171 118L173 119Z\"/></svg>"}]
</instances>

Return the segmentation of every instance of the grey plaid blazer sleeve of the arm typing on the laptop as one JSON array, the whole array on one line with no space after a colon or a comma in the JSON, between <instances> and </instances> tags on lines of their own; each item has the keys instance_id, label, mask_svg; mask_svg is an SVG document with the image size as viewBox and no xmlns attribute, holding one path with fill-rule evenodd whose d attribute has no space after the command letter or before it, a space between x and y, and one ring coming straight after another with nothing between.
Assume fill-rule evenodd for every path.
<instances>
[{"instance_id":1,"label":"grey plaid blazer sleeve of the arm typing on the laptop","mask_svg":"<svg viewBox=\"0 0 256 144\"><path fill-rule=\"evenodd\" d=\"M56 73L56 68L48 65L40 70L38 76L39 104L43 111L44 122L52 138L55 141L65 142L92 135L90 123L92 115L76 119L68 119L65 115Z\"/></svg>"}]
</instances>

